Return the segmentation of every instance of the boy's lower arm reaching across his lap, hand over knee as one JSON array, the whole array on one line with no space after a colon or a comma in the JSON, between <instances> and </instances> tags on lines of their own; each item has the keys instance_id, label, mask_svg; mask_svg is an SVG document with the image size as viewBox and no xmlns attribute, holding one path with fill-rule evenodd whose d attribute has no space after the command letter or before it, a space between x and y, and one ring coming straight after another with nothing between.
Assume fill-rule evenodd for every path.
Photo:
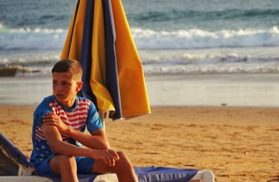
<instances>
[{"instance_id":1,"label":"boy's lower arm reaching across his lap, hand over knee","mask_svg":"<svg viewBox=\"0 0 279 182\"><path fill-rule=\"evenodd\" d=\"M80 148L73 144L63 142L59 130L55 126L50 126L43 123L43 133L47 138L47 143L50 145L53 153L63 154L68 156L86 156L94 159L102 159L107 165L113 166L115 161L119 159L116 151L112 150L95 150Z\"/></svg>"}]
</instances>

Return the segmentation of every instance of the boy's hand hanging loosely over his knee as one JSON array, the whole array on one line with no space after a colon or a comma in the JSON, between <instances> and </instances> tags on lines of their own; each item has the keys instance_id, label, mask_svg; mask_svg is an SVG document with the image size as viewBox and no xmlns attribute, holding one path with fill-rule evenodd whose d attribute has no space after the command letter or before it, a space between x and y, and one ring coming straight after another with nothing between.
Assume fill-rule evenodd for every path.
<instances>
[{"instance_id":1,"label":"boy's hand hanging loosely over his knee","mask_svg":"<svg viewBox=\"0 0 279 182\"><path fill-rule=\"evenodd\" d=\"M101 159L107 165L114 166L115 162L119 160L119 156L116 151L112 151L110 149L107 150L93 150L92 158L94 159Z\"/></svg>"}]
</instances>

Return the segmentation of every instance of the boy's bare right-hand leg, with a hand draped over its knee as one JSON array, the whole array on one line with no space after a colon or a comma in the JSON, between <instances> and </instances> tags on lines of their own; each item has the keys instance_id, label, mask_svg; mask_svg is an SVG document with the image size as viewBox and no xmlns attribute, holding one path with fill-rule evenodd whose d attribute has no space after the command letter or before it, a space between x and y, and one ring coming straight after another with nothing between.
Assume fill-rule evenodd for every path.
<instances>
[{"instance_id":1,"label":"boy's bare right-hand leg, with a hand draped over its knee","mask_svg":"<svg viewBox=\"0 0 279 182\"><path fill-rule=\"evenodd\" d=\"M114 166L109 166L103 160L96 160L91 169L91 172L98 173L116 173L119 182L137 182L134 168L129 158L123 152L117 152L119 160L115 162Z\"/></svg>"}]
</instances>

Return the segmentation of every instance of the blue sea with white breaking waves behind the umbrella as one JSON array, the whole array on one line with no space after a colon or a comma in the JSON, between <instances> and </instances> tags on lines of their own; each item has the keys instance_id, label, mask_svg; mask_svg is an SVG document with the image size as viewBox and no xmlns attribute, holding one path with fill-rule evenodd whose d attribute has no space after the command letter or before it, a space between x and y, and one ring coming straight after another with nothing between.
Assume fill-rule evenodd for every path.
<instances>
[{"instance_id":1,"label":"blue sea with white breaking waves behind the umbrella","mask_svg":"<svg viewBox=\"0 0 279 182\"><path fill-rule=\"evenodd\" d=\"M75 2L0 0L0 67L49 72ZM277 0L122 2L145 73L279 73Z\"/></svg>"}]
</instances>

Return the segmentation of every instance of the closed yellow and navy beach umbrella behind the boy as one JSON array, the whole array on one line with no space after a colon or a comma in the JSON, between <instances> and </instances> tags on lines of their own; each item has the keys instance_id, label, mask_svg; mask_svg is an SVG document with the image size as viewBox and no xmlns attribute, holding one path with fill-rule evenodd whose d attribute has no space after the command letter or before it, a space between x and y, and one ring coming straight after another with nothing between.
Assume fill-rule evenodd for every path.
<instances>
[{"instance_id":1,"label":"closed yellow and navy beach umbrella behind the boy","mask_svg":"<svg viewBox=\"0 0 279 182\"><path fill-rule=\"evenodd\" d=\"M112 119L150 114L140 56L121 0L77 1L61 59L82 64L81 94Z\"/></svg>"}]
</instances>

